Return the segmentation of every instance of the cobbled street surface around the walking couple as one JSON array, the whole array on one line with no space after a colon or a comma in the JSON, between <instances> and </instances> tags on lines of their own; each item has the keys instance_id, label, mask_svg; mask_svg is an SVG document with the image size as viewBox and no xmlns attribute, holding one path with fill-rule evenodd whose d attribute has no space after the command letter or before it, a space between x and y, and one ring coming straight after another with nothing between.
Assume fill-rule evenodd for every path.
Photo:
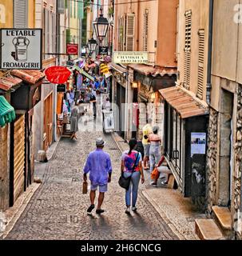
<instances>
[{"instance_id":1,"label":"cobbled street surface around the walking couple","mask_svg":"<svg viewBox=\"0 0 242 256\"><path fill-rule=\"evenodd\" d=\"M177 239L142 195L145 185L140 185L137 214L125 214L125 191L117 184L121 152L111 135L90 132L91 121L79 126L77 141L61 138L50 161L36 164L35 176L42 178L42 186L6 239ZM99 136L107 142L113 176L105 194L105 213L99 216L93 211L88 216L89 194L81 193L82 169Z\"/></svg>"}]
</instances>

